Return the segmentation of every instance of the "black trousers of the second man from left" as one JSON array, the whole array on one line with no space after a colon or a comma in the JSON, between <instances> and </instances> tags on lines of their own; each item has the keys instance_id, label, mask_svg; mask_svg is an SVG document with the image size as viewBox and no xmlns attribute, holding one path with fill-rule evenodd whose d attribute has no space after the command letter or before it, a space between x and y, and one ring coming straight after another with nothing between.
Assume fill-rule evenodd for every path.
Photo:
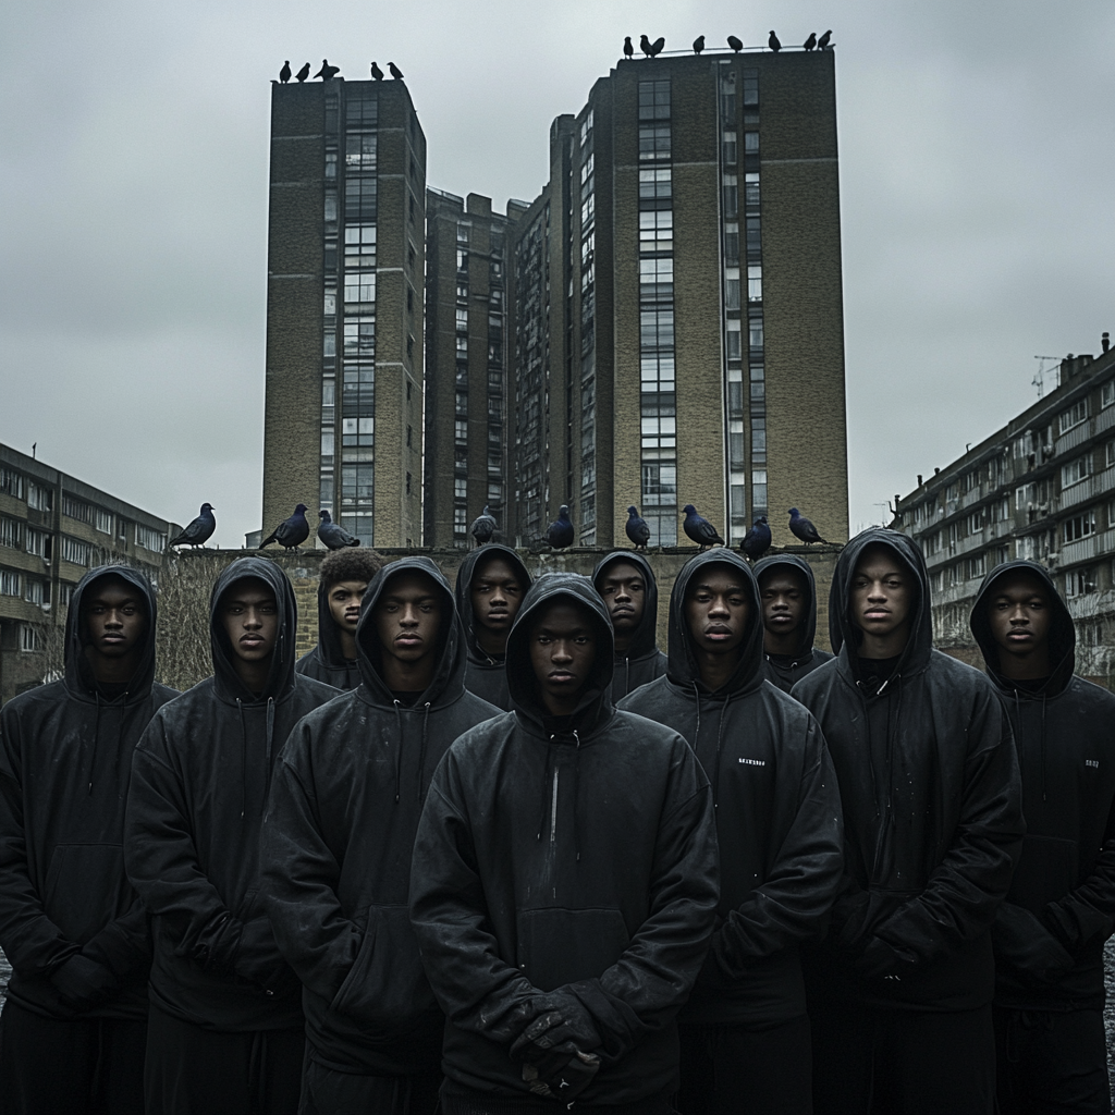
<instances>
[{"instance_id":1,"label":"black trousers of the second man from left","mask_svg":"<svg viewBox=\"0 0 1115 1115\"><path fill-rule=\"evenodd\" d=\"M154 1004L147 1028L147 1115L297 1115L303 1028L206 1030Z\"/></svg>"}]
</instances>

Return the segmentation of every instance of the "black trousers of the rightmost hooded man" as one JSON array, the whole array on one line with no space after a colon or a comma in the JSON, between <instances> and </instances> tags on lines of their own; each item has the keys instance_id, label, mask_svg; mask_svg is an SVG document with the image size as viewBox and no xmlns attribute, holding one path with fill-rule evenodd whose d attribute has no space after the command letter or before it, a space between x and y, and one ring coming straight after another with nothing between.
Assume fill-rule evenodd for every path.
<instances>
[{"instance_id":1,"label":"black trousers of the rightmost hooded man","mask_svg":"<svg viewBox=\"0 0 1115 1115\"><path fill-rule=\"evenodd\" d=\"M1102 1010L995 1009L1001 1115L1109 1115Z\"/></svg>"}]
</instances>

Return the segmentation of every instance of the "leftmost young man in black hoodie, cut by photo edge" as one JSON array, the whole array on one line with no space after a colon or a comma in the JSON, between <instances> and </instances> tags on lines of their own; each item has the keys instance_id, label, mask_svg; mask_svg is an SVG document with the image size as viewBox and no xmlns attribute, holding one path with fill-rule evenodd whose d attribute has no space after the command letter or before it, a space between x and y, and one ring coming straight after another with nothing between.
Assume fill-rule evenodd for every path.
<instances>
[{"instance_id":1,"label":"leftmost young man in black hoodie, cut by photo edge","mask_svg":"<svg viewBox=\"0 0 1115 1115\"><path fill-rule=\"evenodd\" d=\"M0 710L0 1111L143 1113L147 919L124 874L132 752L155 682L155 593L106 565L66 614L65 677Z\"/></svg>"}]
</instances>

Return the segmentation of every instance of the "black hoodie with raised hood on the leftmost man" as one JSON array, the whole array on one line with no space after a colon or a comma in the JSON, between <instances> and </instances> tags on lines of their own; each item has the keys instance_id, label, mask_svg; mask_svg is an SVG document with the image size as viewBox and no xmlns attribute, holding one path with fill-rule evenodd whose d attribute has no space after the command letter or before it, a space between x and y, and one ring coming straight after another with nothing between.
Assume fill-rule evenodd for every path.
<instances>
[{"instance_id":1,"label":"black hoodie with raised hood on the leftmost man","mask_svg":"<svg viewBox=\"0 0 1115 1115\"><path fill-rule=\"evenodd\" d=\"M107 575L136 589L147 611L136 675L112 698L89 669L81 624L83 597ZM155 627L155 593L143 573L90 570L66 614L64 678L0 710L0 947L12 966L9 997L38 1015L147 1015L151 935L124 874L123 845L132 752L155 710L177 696L154 680ZM79 1009L59 997L51 976L65 979L59 970L68 964L80 980L89 962L115 988ZM72 990L74 982L64 986Z\"/></svg>"}]
</instances>

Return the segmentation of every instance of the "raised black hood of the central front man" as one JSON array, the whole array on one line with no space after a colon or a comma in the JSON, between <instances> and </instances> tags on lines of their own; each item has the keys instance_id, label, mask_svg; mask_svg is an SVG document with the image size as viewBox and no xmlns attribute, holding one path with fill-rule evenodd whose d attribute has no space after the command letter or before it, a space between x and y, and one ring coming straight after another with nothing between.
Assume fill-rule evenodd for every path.
<instances>
[{"instance_id":1,"label":"raised black hood of the central front man","mask_svg":"<svg viewBox=\"0 0 1115 1115\"><path fill-rule=\"evenodd\" d=\"M572 727L588 729L611 709L609 689L614 666L614 641L608 609L586 576L579 573L544 573L527 591L507 637L507 689L516 712L547 735L547 724L552 717L539 692L529 642L531 628L539 613L553 603L564 601L585 608L597 629L597 657L573 714Z\"/></svg>"}]
</instances>

